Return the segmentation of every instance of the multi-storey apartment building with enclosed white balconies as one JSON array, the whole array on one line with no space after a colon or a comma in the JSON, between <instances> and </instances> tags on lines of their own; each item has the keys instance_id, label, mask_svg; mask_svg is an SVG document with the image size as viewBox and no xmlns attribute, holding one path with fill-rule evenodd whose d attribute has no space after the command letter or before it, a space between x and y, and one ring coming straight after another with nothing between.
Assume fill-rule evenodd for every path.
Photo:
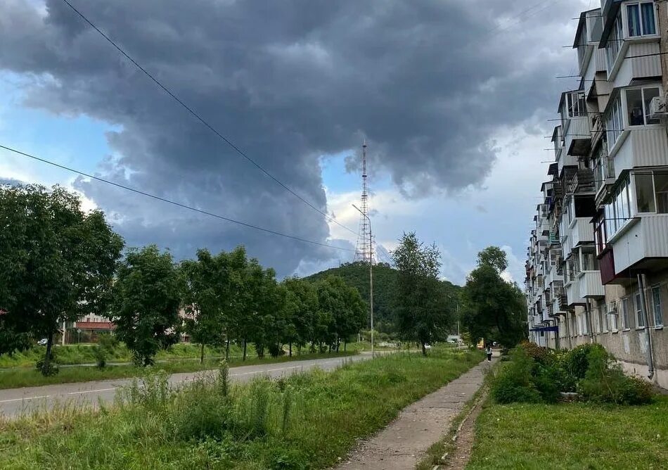
<instances>
[{"instance_id":1,"label":"multi-storey apartment building with enclosed white balconies","mask_svg":"<svg viewBox=\"0 0 668 470\"><path fill-rule=\"evenodd\" d=\"M603 0L579 16L580 77L527 252L529 334L605 346L668 388L668 7Z\"/></svg>"}]
</instances>

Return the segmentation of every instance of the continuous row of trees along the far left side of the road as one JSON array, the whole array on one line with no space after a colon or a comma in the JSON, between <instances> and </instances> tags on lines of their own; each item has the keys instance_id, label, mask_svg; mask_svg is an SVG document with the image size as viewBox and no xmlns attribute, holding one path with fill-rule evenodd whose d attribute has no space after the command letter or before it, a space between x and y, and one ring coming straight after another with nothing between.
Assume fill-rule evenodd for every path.
<instances>
[{"instance_id":1,"label":"continuous row of trees along the far left side of the road","mask_svg":"<svg viewBox=\"0 0 668 470\"><path fill-rule=\"evenodd\" d=\"M63 322L108 317L135 362L153 363L181 334L204 346L255 346L263 357L345 349L366 325L366 304L338 277L289 278L248 258L243 247L176 263L156 246L130 248L103 212L54 186L0 186L0 353L46 337L41 370L53 371ZM184 313L185 315L179 315Z\"/></svg>"}]
</instances>

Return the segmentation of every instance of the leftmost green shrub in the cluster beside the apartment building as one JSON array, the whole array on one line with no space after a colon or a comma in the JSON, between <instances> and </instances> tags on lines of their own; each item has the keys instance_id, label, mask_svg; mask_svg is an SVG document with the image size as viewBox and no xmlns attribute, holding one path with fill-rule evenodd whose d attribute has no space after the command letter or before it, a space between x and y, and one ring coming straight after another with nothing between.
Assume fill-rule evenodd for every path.
<instances>
[{"instance_id":1,"label":"leftmost green shrub in the cluster beside the apartment building","mask_svg":"<svg viewBox=\"0 0 668 470\"><path fill-rule=\"evenodd\" d=\"M499 403L541 401L532 381L535 361L525 348L518 346L510 353L510 362L492 381L492 397Z\"/></svg>"}]
</instances>

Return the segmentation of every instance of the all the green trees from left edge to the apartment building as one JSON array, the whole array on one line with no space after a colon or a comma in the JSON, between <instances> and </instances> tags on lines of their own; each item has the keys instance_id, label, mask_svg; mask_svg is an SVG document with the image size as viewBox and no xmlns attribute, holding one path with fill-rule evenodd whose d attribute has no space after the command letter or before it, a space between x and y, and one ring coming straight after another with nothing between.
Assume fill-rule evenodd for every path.
<instances>
[{"instance_id":1,"label":"all the green trees from left edge to the apartment building","mask_svg":"<svg viewBox=\"0 0 668 470\"><path fill-rule=\"evenodd\" d=\"M435 245L406 233L392 258L394 281L385 283L391 293L383 293L392 312L387 324L420 344L423 354L456 321L473 343L510 347L525 337L524 299L501 276L508 262L500 248L479 253L456 298L439 279ZM198 250L195 259L179 263L156 246L124 250L103 212L84 212L79 197L58 186L0 186L0 266L0 354L46 337L45 374L58 326L86 314L112 319L143 365L181 334L202 345L200 360L205 345L224 347L227 355L232 342L242 345L245 359L248 344L260 357L284 348L290 355L293 348L299 354L304 347L339 350L343 343L345 349L368 321L365 301L344 279L279 282L274 269L248 258L243 247Z\"/></svg>"}]
</instances>

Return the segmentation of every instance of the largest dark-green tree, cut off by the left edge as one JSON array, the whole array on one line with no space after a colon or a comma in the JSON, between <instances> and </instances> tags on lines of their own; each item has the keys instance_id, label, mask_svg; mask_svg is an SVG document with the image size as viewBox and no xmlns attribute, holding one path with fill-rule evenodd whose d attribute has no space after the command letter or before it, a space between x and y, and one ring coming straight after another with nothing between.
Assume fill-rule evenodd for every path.
<instances>
[{"instance_id":1,"label":"largest dark-green tree, cut off by the left edge","mask_svg":"<svg viewBox=\"0 0 668 470\"><path fill-rule=\"evenodd\" d=\"M103 212L84 212L74 193L0 186L0 336L14 336L0 352L46 337L49 374L58 326L106 311L122 248Z\"/></svg>"}]
</instances>

